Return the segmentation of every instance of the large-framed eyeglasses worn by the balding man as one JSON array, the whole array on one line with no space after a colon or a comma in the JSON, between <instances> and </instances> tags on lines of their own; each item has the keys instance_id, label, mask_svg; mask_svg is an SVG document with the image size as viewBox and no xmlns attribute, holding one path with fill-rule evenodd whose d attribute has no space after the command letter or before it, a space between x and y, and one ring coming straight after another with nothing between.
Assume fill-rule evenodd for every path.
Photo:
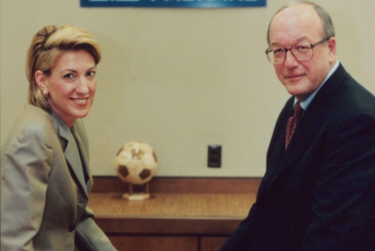
<instances>
[{"instance_id":1,"label":"large-framed eyeglasses worn by the balding man","mask_svg":"<svg viewBox=\"0 0 375 251\"><path fill-rule=\"evenodd\" d=\"M266 50L268 60L273 64L281 64L287 57L287 52L290 50L298 61L306 61L312 58L312 49L319 44L328 41L330 38L325 38L317 43L298 43L291 48L284 47L270 47Z\"/></svg>"}]
</instances>

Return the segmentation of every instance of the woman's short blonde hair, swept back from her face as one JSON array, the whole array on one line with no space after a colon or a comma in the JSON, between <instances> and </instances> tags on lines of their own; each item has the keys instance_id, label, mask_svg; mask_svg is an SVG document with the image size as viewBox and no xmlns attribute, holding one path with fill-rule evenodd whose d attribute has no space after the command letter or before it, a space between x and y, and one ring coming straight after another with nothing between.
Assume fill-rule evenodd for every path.
<instances>
[{"instance_id":1,"label":"woman's short blonde hair, swept back from her face","mask_svg":"<svg viewBox=\"0 0 375 251\"><path fill-rule=\"evenodd\" d=\"M46 98L35 80L40 70L50 76L56 59L64 52L85 50L94 58L95 65L100 62L99 44L84 29L73 25L44 26L34 35L26 57L26 77L29 81L27 101L45 110L51 110Z\"/></svg>"}]
</instances>

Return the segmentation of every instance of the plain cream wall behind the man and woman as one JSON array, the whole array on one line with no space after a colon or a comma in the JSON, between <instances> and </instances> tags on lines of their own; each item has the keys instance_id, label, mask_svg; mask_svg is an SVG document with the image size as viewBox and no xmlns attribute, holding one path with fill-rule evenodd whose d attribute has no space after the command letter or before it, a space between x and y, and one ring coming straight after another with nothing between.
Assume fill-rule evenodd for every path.
<instances>
[{"instance_id":1,"label":"plain cream wall behind the man and woman","mask_svg":"<svg viewBox=\"0 0 375 251\"><path fill-rule=\"evenodd\" d=\"M80 8L79 0L0 1L1 142L27 93L25 54L47 24L82 26L101 44L96 100L85 120L95 175L131 140L149 143L158 176L262 176L273 126L289 97L267 61L266 8ZM337 57L375 93L374 0L316 0L331 13ZM207 145L223 146L207 168Z\"/></svg>"}]
</instances>

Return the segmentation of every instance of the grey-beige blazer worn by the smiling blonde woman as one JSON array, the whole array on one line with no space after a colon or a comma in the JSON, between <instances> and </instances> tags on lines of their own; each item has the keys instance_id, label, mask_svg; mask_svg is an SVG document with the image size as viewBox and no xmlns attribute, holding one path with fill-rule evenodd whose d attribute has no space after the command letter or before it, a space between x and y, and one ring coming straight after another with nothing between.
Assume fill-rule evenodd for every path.
<instances>
[{"instance_id":1,"label":"grey-beige blazer worn by the smiling blonde woman","mask_svg":"<svg viewBox=\"0 0 375 251\"><path fill-rule=\"evenodd\" d=\"M92 177L81 119L70 130L55 113L26 105L0 163L2 251L115 250L86 207Z\"/></svg>"}]
</instances>

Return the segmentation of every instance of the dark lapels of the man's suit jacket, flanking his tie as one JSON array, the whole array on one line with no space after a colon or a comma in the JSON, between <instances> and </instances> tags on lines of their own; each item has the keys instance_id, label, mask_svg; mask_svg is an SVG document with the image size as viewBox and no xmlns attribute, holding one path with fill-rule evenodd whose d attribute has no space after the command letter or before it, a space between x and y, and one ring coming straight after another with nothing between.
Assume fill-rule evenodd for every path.
<instances>
[{"instance_id":1,"label":"dark lapels of the man's suit jacket, flanking his tie","mask_svg":"<svg viewBox=\"0 0 375 251\"><path fill-rule=\"evenodd\" d=\"M299 161L312 144L316 133L322 126L324 118L329 116L330 102L335 95L339 95L340 83L346 75L345 69L340 64L333 75L322 86L311 104L305 111L292 140L284 151L285 131L288 118L292 115L292 98L280 114L272 135L269 153L267 155L267 172L259 188L258 198L262 197L274 182L289 168Z\"/></svg>"}]
</instances>

